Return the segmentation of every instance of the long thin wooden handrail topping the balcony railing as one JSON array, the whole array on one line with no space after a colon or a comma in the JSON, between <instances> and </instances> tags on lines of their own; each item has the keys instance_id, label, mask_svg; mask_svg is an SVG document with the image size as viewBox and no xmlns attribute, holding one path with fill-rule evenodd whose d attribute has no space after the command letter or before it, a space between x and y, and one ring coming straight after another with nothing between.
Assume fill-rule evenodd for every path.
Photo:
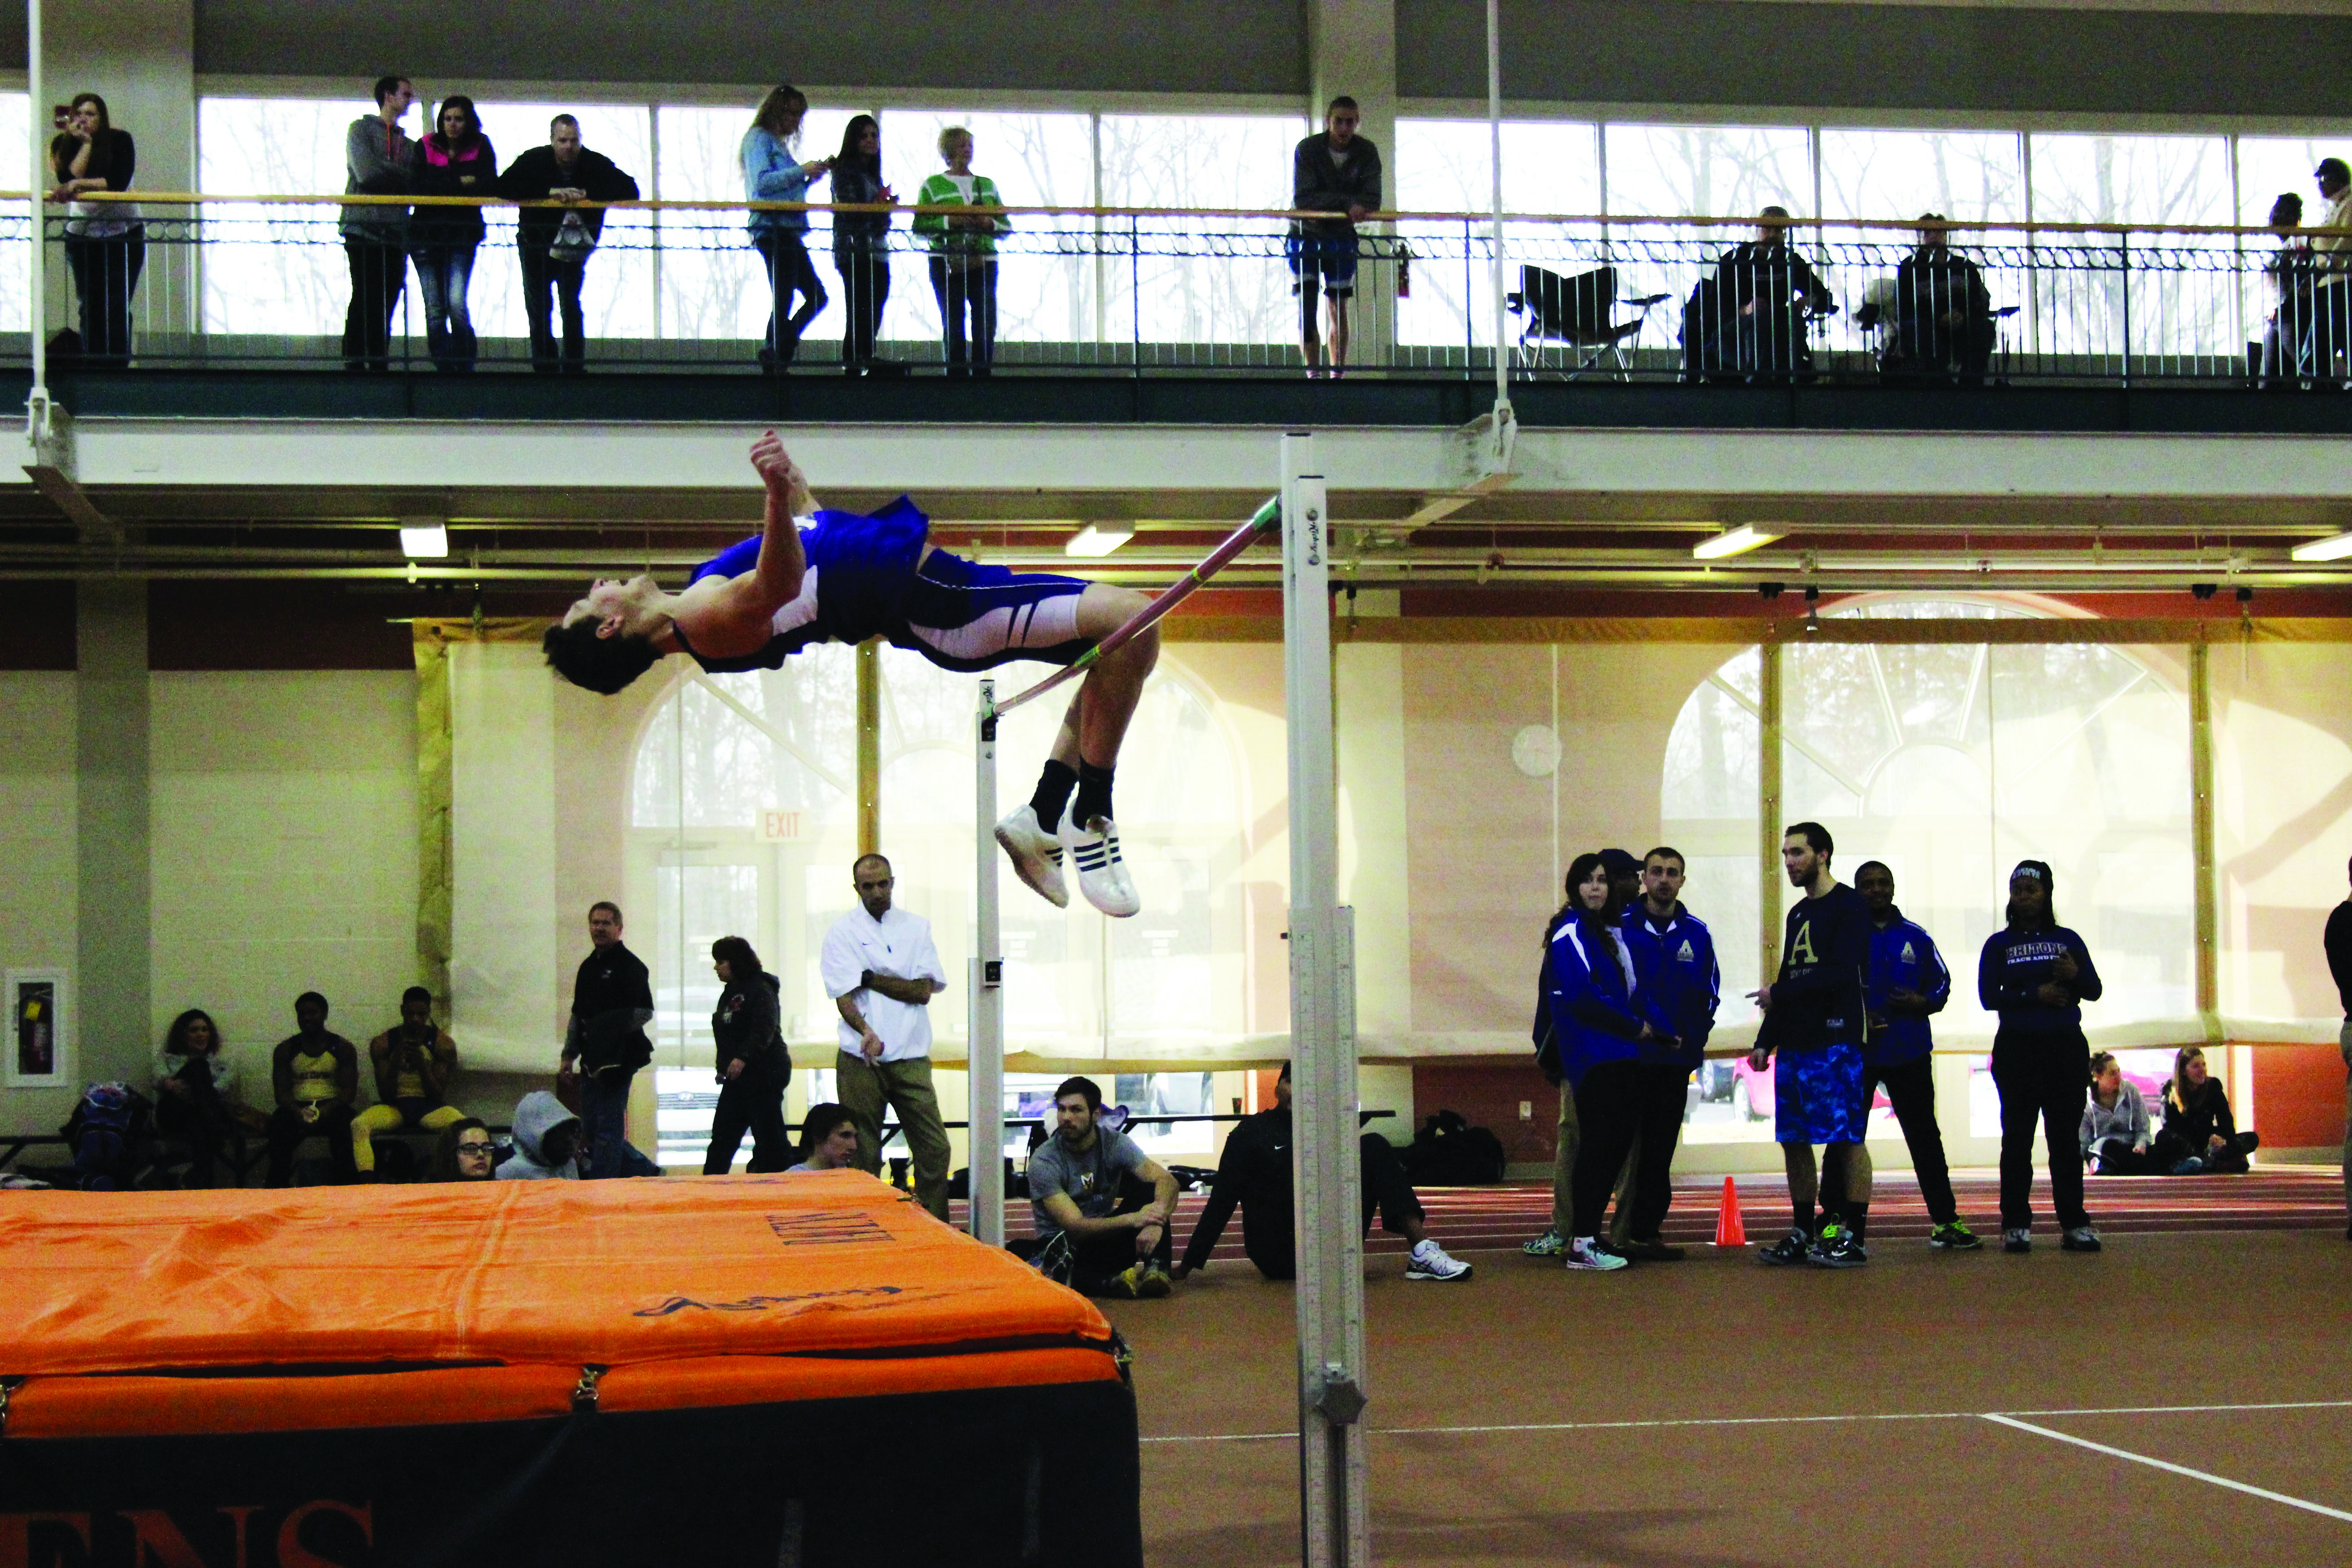
<instances>
[{"instance_id":1,"label":"long thin wooden handrail topping the balcony railing","mask_svg":"<svg viewBox=\"0 0 2352 1568\"><path fill-rule=\"evenodd\" d=\"M0 190L0 202L24 202L24 190ZM200 190L85 190L75 202L153 202L160 207L532 207L555 212L906 212L922 216L1051 216L1051 219L1279 219L1322 221L1338 214L1289 207L922 207L908 202L729 202L729 200L635 200L635 202L515 202L501 195L207 195ZM45 207L54 207L42 197ZM1623 212L1505 212L1505 223L1559 223L1576 228L1755 228L1757 214L1623 214ZM1374 212L1364 223L1494 223L1491 212ZM2279 230L2260 223L1919 223L1919 219L1790 219L1790 230L1919 233L1936 228L1950 235L2230 235L2244 240L2279 240ZM2352 228L2296 228L2303 240L2352 240Z\"/></svg>"}]
</instances>

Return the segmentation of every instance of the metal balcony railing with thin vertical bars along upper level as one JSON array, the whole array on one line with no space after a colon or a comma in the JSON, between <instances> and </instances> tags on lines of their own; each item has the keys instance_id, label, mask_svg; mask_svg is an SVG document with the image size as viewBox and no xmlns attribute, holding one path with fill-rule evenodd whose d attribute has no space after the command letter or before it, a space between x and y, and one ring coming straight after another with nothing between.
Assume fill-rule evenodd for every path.
<instances>
[{"instance_id":1,"label":"metal balcony railing with thin vertical bars along upper level","mask_svg":"<svg viewBox=\"0 0 2352 1568\"><path fill-rule=\"evenodd\" d=\"M350 270L343 207L482 207L487 237L468 289L470 369L532 364L517 266L517 207L475 197L129 193L136 207L129 369L346 367ZM539 207L548 207L541 202ZM129 275L132 237L89 240L49 207L49 284L26 294L31 212L0 195L0 360L21 362L78 327L66 252L87 275ZM797 369L837 369L847 315L830 266L835 214L875 207L616 202L583 287L586 367L760 369L769 287L750 212L804 212L828 306ZM898 219L913 212L891 209ZM971 214L974 209L950 209ZM1291 221L1242 209L1007 207L995 237L995 367L1120 376L1301 374ZM68 235L68 226L80 230ZM1755 219L1508 216L1510 310L1501 353L1522 378L1710 383L2201 383L2336 386L2352 367L2352 270L2279 263L2260 228L1985 223L1952 226L1943 261L1917 252L1915 221L1804 221L1788 249L1724 261ZM2298 240L2331 244L2328 230ZM903 221L882 242L891 294L877 353L913 374L943 369L931 254ZM1359 230L1350 371L1491 376L1494 221L1381 214ZM94 249L99 247L99 249ZM101 256L103 247L115 247ZM2345 254L2352 266L2352 252ZM38 315L38 320L33 320ZM1319 313L1317 313L1319 315ZM1322 322L1317 320L1317 331ZM2274 336L2270 369L2265 331ZM85 348L92 348L85 343ZM101 346L99 346L101 348ZM59 343L52 369L75 364ZM452 369L428 350L416 273L390 324L395 371ZM85 355L82 367L122 362Z\"/></svg>"}]
</instances>

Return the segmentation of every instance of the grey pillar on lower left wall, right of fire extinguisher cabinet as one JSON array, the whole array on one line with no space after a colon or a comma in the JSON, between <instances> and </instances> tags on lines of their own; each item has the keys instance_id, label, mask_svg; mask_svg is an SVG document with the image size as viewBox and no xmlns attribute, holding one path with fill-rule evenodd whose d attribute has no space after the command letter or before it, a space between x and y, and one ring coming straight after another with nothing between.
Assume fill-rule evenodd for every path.
<instances>
[{"instance_id":1,"label":"grey pillar on lower left wall, right of fire extinguisher cabinet","mask_svg":"<svg viewBox=\"0 0 2352 1568\"><path fill-rule=\"evenodd\" d=\"M146 583L82 581L75 592L75 922L80 1077L146 1079L153 1041L148 940Z\"/></svg>"}]
</instances>

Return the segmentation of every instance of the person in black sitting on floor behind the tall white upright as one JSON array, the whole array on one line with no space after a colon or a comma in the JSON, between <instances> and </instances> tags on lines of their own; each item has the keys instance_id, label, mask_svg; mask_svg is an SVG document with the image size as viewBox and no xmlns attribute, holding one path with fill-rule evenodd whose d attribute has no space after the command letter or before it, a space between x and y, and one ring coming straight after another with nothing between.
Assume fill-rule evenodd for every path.
<instances>
[{"instance_id":1,"label":"person in black sitting on floor behind the tall white upright","mask_svg":"<svg viewBox=\"0 0 2352 1568\"><path fill-rule=\"evenodd\" d=\"M1378 1211L1381 1229L1414 1244L1404 1267L1406 1279L1470 1279L1470 1265L1456 1262L1421 1227L1421 1199L1404 1180L1404 1166L1378 1133L1364 1133L1364 1229ZM1275 1110L1242 1117L1225 1138L1216 1161L1216 1185L1202 1208L1192 1239L1176 1265L1176 1279L1209 1265L1216 1239L1225 1234L1235 1204L1242 1206L1242 1251L1268 1279L1298 1279L1298 1218L1291 1204L1291 1065L1282 1063L1275 1079Z\"/></svg>"}]
</instances>

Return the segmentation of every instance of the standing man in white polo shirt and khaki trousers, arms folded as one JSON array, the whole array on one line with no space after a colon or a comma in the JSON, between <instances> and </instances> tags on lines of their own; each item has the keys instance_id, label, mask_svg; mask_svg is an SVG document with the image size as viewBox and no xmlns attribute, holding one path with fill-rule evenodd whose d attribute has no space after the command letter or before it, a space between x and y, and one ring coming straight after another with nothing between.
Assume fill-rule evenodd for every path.
<instances>
[{"instance_id":1,"label":"standing man in white polo shirt and khaki trousers, arms folded","mask_svg":"<svg viewBox=\"0 0 2352 1568\"><path fill-rule=\"evenodd\" d=\"M826 994L842 1013L837 1095L858 1124L858 1166L882 1173L882 1105L898 1112L915 1154L915 1197L948 1218L948 1128L931 1091L931 997L948 990L931 945L931 922L894 910L882 856L849 870L858 907L826 931Z\"/></svg>"}]
</instances>

